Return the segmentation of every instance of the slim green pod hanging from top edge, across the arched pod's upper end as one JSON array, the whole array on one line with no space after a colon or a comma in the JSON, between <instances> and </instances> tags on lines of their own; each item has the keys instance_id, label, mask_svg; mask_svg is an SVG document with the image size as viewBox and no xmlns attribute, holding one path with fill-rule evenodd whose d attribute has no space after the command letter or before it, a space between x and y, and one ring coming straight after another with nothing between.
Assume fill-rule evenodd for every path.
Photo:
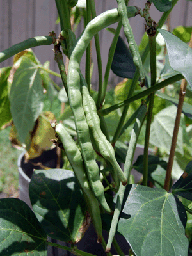
<instances>
[{"instance_id":1,"label":"slim green pod hanging from top edge, across the arched pod's upper end","mask_svg":"<svg viewBox=\"0 0 192 256\"><path fill-rule=\"evenodd\" d=\"M132 33L132 28L129 23L129 19L127 17L127 7L125 5L125 0L116 0L118 3L118 12L120 17L122 18L122 24L124 27L124 33L127 38L127 42L129 44L129 49L132 54L134 65L138 68L141 77L140 86L143 87L145 85L145 73L143 69L143 64L141 61L140 53L138 51L138 45L134 40L134 35Z\"/></svg>"}]
</instances>

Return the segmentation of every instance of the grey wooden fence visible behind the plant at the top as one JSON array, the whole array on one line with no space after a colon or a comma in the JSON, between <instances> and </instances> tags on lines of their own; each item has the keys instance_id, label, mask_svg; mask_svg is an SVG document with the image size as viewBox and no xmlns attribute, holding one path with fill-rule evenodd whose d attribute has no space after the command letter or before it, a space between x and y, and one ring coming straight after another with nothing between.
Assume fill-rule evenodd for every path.
<instances>
[{"instance_id":1,"label":"grey wooden fence visible behind the plant at the top","mask_svg":"<svg viewBox=\"0 0 192 256\"><path fill-rule=\"evenodd\" d=\"M97 15L116 8L116 0L95 0ZM130 6L138 6L144 8L145 1L130 0ZM192 26L192 1L179 0L170 16L170 28L171 30L176 26ZM162 13L157 11L153 6L150 10L152 19L156 22L160 19ZM22 40L33 36L48 35L49 31L54 30L56 35L60 33L60 25L56 25L57 11L54 0L0 0L0 51L10 47L13 44L17 44ZM130 19L132 30L136 38L136 43L140 44L141 36L144 31L145 20L139 15ZM114 24L113 28L116 28ZM79 26L77 35L80 35L83 26ZM121 34L124 37L124 32ZM103 68L106 67L108 60L108 51L113 39L113 35L108 31L101 31L99 33L100 47L103 61ZM95 56L95 48L93 44L93 62L94 70L92 77L93 86L97 86L97 59ZM41 46L33 48L38 60L41 63L49 60L51 63L51 69L58 72L58 67L54 61L54 53L52 52L52 45ZM0 67L12 65L12 58L4 61L0 64ZM84 72L84 58L81 61L81 68ZM104 70L103 70L104 72ZM55 81L60 82L56 79ZM113 72L110 72L109 81L112 85L115 85L120 81L119 77L116 77Z\"/></svg>"}]
</instances>

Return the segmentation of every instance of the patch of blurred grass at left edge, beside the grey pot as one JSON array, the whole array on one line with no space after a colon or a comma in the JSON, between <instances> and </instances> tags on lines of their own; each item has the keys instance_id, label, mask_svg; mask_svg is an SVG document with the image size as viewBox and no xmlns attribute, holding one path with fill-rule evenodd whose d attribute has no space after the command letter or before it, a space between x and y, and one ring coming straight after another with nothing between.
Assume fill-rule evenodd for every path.
<instances>
[{"instance_id":1,"label":"patch of blurred grass at left edge, beside the grey pot","mask_svg":"<svg viewBox=\"0 0 192 256\"><path fill-rule=\"evenodd\" d=\"M3 193L3 197L17 197L19 185L17 159L20 150L12 147L8 138L9 132L10 127L0 131L0 193Z\"/></svg>"}]
</instances>

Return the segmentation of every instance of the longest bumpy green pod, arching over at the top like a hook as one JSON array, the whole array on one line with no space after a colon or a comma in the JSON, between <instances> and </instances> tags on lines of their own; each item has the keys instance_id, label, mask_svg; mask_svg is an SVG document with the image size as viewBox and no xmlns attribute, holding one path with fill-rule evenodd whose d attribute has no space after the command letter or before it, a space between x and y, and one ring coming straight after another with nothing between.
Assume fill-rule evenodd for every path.
<instances>
[{"instance_id":1,"label":"longest bumpy green pod, arching over at the top like a hook","mask_svg":"<svg viewBox=\"0 0 192 256\"><path fill-rule=\"evenodd\" d=\"M136 12L136 8L129 8L130 17L136 15ZM76 46L74 47L70 56L68 66L68 99L74 115L77 138L79 140L79 146L81 148L81 154L83 156L90 185L93 189L93 193L100 203L104 201L104 188L102 186L102 182L100 182L99 168L95 161L94 151L89 135L89 127L86 122L82 106L82 96L80 92L81 71L79 63L83 56L83 52L86 50L86 47L95 33L98 33L101 29L106 28L106 26L109 26L110 24L118 22L119 19L120 17L117 9L113 9L101 13L99 16L89 22L79 40L77 40Z\"/></svg>"}]
</instances>

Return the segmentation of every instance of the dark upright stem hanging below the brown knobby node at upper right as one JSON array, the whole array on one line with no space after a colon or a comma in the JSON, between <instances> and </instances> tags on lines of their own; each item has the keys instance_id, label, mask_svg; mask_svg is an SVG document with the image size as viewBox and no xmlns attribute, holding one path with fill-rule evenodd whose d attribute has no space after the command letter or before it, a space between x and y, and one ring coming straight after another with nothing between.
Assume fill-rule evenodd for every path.
<instances>
[{"instance_id":1,"label":"dark upright stem hanging below the brown knobby node at upper right","mask_svg":"<svg viewBox=\"0 0 192 256\"><path fill-rule=\"evenodd\" d=\"M150 74L151 74L151 87L156 84L157 79L157 66L156 66L156 37L148 36L149 49L150 49ZM144 162L143 162L143 185L147 186L148 180L148 147L150 138L150 125L152 121L152 111L154 108L155 93L149 95L147 124L145 129L145 146L144 146Z\"/></svg>"}]
</instances>

